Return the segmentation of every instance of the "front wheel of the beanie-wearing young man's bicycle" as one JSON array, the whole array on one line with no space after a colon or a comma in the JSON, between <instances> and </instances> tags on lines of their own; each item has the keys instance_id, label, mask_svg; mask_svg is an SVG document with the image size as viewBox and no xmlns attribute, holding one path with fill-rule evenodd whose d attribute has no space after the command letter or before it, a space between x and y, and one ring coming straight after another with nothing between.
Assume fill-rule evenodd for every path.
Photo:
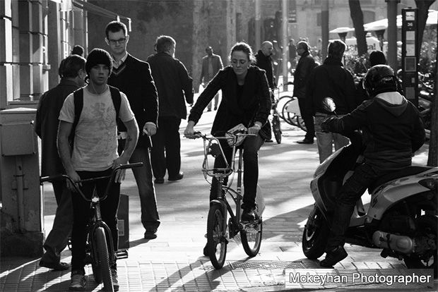
<instances>
[{"instance_id":1,"label":"front wheel of the beanie-wearing young man's bicycle","mask_svg":"<svg viewBox=\"0 0 438 292\"><path fill-rule=\"evenodd\" d=\"M107 238L105 236L105 229L102 227L97 227L94 233L94 240L96 247L95 255L97 255L97 258L95 258L93 261L95 263L93 264L93 274L95 273L96 269L96 272L99 275L97 276L94 274L95 281L97 281L97 279L103 281L103 287L105 291L114 291L112 286L111 269L109 268L108 245Z\"/></svg>"}]
</instances>

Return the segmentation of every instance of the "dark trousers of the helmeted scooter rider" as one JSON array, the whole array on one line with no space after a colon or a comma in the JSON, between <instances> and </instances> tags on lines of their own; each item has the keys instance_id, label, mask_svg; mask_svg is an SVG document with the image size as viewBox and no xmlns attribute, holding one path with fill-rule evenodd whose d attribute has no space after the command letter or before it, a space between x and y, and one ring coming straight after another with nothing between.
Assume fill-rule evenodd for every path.
<instances>
[{"instance_id":1,"label":"dark trousers of the helmeted scooter rider","mask_svg":"<svg viewBox=\"0 0 438 292\"><path fill-rule=\"evenodd\" d=\"M386 171L375 169L365 163L358 166L353 175L348 178L336 197L336 212L333 214L326 250L333 250L338 245L345 244L345 231L350 225L350 218L357 200L373 181L384 174Z\"/></svg>"}]
</instances>

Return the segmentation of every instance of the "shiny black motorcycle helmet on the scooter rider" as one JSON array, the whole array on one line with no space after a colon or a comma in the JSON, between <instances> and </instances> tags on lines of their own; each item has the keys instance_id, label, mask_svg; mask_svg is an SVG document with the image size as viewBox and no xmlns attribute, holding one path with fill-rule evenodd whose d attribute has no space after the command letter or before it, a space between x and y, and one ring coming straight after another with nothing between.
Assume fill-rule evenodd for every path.
<instances>
[{"instance_id":1,"label":"shiny black motorcycle helmet on the scooter rider","mask_svg":"<svg viewBox=\"0 0 438 292\"><path fill-rule=\"evenodd\" d=\"M363 87L369 97L375 97L382 92L397 91L396 75L387 65L373 66L365 75Z\"/></svg>"}]
</instances>

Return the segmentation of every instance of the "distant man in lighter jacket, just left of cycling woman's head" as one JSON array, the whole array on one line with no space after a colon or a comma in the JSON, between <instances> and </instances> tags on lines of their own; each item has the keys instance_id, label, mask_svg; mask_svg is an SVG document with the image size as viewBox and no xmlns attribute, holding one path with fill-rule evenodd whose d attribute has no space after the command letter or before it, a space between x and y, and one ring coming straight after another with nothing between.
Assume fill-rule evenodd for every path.
<instances>
[{"instance_id":1,"label":"distant man in lighter jacket, just left of cycling woman's head","mask_svg":"<svg viewBox=\"0 0 438 292\"><path fill-rule=\"evenodd\" d=\"M213 54L213 49L208 46L206 47L207 56L202 58L202 69L201 78L199 83L205 88L210 80L215 77L216 73L223 68L222 59L219 55ZM208 104L207 111L211 111L213 101ZM219 106L219 92L215 95L214 110L218 109Z\"/></svg>"}]
</instances>

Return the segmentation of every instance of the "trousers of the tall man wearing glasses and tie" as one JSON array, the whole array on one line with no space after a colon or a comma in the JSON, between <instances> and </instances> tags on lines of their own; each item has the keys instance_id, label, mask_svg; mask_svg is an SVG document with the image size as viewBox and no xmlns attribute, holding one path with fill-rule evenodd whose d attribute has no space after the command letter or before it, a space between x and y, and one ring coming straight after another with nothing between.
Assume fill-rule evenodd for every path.
<instances>
[{"instance_id":1,"label":"trousers of the tall man wearing glasses and tie","mask_svg":"<svg viewBox=\"0 0 438 292\"><path fill-rule=\"evenodd\" d=\"M122 152L125 140L119 140L119 153ZM152 181L152 168L148 148L136 147L129 159L129 163L143 162L143 166L134 167L132 173L136 179L138 195L140 196L141 224L146 230L158 229L160 217L158 215L157 199Z\"/></svg>"}]
</instances>

